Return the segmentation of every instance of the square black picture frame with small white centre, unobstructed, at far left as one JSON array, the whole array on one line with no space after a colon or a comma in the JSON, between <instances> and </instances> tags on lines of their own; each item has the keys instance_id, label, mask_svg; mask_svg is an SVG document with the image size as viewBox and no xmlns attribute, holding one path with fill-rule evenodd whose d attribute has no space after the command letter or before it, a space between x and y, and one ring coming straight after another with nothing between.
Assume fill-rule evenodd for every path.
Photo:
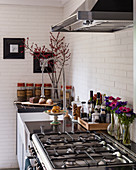
<instances>
[{"instance_id":1,"label":"square black picture frame with small white centre, unobstructed, at far left","mask_svg":"<svg viewBox=\"0 0 136 170\"><path fill-rule=\"evenodd\" d=\"M24 59L24 38L3 38L4 59Z\"/></svg>"}]
</instances>

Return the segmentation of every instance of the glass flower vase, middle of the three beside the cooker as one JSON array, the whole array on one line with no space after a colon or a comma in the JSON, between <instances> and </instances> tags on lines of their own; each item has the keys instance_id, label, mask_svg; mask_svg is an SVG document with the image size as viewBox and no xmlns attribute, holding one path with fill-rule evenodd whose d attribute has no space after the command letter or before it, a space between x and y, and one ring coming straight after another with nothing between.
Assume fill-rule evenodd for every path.
<instances>
[{"instance_id":1,"label":"glass flower vase, middle of the three beside the cooker","mask_svg":"<svg viewBox=\"0 0 136 170\"><path fill-rule=\"evenodd\" d=\"M114 128L115 138L117 140L122 140L122 125L121 125L121 119L117 117L116 119L116 125Z\"/></svg>"}]
</instances>

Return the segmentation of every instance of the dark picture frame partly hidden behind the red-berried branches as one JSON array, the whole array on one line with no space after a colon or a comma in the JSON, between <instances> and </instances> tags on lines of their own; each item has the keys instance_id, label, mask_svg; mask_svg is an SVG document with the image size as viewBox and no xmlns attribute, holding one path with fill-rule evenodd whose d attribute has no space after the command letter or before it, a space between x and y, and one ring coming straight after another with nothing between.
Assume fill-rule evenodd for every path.
<instances>
[{"instance_id":1,"label":"dark picture frame partly hidden behind the red-berried branches","mask_svg":"<svg viewBox=\"0 0 136 170\"><path fill-rule=\"evenodd\" d=\"M46 58L51 58L53 57L53 53L44 53L43 54L45 56L45 59ZM34 56L33 56L33 73L42 73L41 71L41 67L40 67L40 59L42 59L43 56L37 56L37 53L34 53ZM52 73L53 72L53 69L54 69L54 60L50 60L48 61L48 66L45 67L44 69L44 73Z\"/></svg>"}]
</instances>

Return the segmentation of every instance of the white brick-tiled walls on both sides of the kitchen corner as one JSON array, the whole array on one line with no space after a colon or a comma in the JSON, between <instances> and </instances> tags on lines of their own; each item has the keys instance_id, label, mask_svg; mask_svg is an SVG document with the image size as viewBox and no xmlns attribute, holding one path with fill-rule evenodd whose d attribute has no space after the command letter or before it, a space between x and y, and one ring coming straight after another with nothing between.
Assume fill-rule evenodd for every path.
<instances>
[{"instance_id":1,"label":"white brick-tiled walls on both sides of the kitchen corner","mask_svg":"<svg viewBox=\"0 0 136 170\"><path fill-rule=\"evenodd\" d=\"M70 0L64 9L0 5L0 168L16 168L16 84L41 82L33 74L32 57L25 60L3 59L3 38L26 38L40 45L49 43L50 26L71 14L84 0ZM64 15L63 15L64 14ZM81 100L89 98L89 90L120 96L133 103L133 30L117 33L66 33L72 53L66 68L67 85L75 87ZM45 81L49 82L45 75ZM133 124L136 126L136 122ZM134 128L133 128L134 129ZM134 138L135 136L135 138ZM136 141L132 131L131 138Z\"/></svg>"}]
</instances>

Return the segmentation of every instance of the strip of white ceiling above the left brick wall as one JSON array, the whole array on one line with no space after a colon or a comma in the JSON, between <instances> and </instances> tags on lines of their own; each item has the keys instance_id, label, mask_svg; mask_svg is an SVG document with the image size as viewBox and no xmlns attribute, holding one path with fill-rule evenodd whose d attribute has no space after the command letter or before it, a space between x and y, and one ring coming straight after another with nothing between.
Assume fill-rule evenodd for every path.
<instances>
[{"instance_id":1,"label":"strip of white ceiling above the left brick wall","mask_svg":"<svg viewBox=\"0 0 136 170\"><path fill-rule=\"evenodd\" d=\"M68 0L0 0L0 4L63 7Z\"/></svg>"}]
</instances>

